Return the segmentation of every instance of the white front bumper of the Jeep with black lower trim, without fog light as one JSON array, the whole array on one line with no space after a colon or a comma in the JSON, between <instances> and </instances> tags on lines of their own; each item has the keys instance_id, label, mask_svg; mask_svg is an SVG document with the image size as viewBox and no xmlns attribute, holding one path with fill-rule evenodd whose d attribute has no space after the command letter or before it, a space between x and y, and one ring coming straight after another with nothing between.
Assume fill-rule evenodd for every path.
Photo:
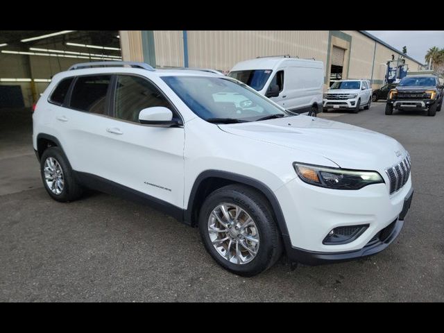
<instances>
[{"instance_id":1,"label":"white front bumper of the Jeep with black lower trim, without fog light","mask_svg":"<svg viewBox=\"0 0 444 333\"><path fill-rule=\"evenodd\" d=\"M386 184L347 191L314 187L295 178L275 191L288 229L284 235L288 257L304 264L325 264L384 250L402 228L409 207L405 199L412 193L411 176L395 194L389 194ZM330 230L351 225L368 228L347 244L323 244Z\"/></svg>"}]
</instances>

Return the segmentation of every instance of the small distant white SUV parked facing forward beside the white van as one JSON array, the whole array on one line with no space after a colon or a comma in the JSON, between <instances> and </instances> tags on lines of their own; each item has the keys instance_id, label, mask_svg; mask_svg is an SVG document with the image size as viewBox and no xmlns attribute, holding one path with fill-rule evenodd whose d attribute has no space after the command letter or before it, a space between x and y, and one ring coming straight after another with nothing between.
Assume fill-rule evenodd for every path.
<instances>
[{"instance_id":1,"label":"small distant white SUV parked facing forward beside the white van","mask_svg":"<svg viewBox=\"0 0 444 333\"><path fill-rule=\"evenodd\" d=\"M372 103L372 86L369 80L336 81L324 94L323 110L348 109L358 113L368 110Z\"/></svg>"}]
</instances>

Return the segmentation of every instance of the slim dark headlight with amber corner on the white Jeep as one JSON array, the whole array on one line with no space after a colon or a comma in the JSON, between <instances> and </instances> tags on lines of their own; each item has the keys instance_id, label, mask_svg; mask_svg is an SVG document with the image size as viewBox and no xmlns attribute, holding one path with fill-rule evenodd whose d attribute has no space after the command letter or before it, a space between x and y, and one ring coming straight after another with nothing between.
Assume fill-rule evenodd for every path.
<instances>
[{"instance_id":1,"label":"slim dark headlight with amber corner on the white Jeep","mask_svg":"<svg viewBox=\"0 0 444 333\"><path fill-rule=\"evenodd\" d=\"M329 189L361 189L370 184L384 183L376 171L357 171L294 162L299 178L308 184Z\"/></svg>"}]
</instances>

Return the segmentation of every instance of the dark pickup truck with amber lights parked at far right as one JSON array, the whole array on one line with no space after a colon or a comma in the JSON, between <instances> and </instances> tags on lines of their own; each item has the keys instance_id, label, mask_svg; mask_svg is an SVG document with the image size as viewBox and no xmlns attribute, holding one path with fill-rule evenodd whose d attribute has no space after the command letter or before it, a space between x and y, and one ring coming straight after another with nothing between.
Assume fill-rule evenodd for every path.
<instances>
[{"instance_id":1,"label":"dark pickup truck with amber lights parked at far right","mask_svg":"<svg viewBox=\"0 0 444 333\"><path fill-rule=\"evenodd\" d=\"M406 76L387 96L386 114L393 110L427 110L433 117L443 105L443 85L437 76Z\"/></svg>"}]
</instances>

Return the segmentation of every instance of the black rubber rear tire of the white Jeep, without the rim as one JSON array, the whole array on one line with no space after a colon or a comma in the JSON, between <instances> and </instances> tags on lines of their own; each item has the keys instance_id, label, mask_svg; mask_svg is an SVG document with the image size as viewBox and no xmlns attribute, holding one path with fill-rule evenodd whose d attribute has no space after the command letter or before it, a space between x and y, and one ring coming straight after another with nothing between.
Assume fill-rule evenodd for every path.
<instances>
[{"instance_id":1,"label":"black rubber rear tire of the white Jeep, without the rim","mask_svg":"<svg viewBox=\"0 0 444 333\"><path fill-rule=\"evenodd\" d=\"M55 159L62 169L64 184L60 194L53 193L44 179L44 164L48 157ZM50 147L43 152L40 158L40 176L42 177L44 188L54 200L65 203L67 201L74 201L82 195L83 189L78 185L78 182L76 182L67 157L58 147Z\"/></svg>"}]
</instances>

